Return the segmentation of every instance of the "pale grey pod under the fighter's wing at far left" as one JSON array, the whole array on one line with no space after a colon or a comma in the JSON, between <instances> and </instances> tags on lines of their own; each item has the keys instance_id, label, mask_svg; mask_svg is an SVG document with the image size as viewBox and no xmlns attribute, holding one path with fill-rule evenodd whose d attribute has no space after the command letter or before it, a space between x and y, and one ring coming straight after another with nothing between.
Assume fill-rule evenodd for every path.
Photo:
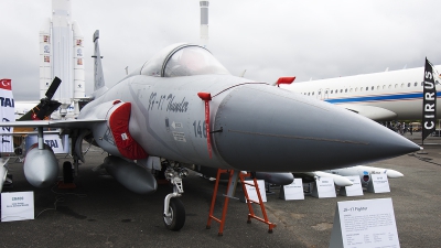
<instances>
[{"instance_id":1,"label":"pale grey pod under the fighter's wing at far left","mask_svg":"<svg viewBox=\"0 0 441 248\"><path fill-rule=\"evenodd\" d=\"M23 166L28 182L35 187L51 186L58 176L58 161L47 144L43 149L37 143L31 145Z\"/></svg>"}]
</instances>

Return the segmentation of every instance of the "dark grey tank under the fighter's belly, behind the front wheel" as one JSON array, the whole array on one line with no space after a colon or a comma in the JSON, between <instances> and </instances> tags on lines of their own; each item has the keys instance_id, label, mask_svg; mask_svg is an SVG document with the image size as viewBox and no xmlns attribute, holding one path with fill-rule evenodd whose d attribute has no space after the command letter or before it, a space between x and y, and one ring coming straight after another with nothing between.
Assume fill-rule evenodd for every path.
<instances>
[{"instance_id":1,"label":"dark grey tank under the fighter's belly, behind the front wheel","mask_svg":"<svg viewBox=\"0 0 441 248\"><path fill-rule=\"evenodd\" d=\"M157 191L157 180L146 168L115 155L107 157L103 165L115 180L135 193L149 194Z\"/></svg>"}]
</instances>

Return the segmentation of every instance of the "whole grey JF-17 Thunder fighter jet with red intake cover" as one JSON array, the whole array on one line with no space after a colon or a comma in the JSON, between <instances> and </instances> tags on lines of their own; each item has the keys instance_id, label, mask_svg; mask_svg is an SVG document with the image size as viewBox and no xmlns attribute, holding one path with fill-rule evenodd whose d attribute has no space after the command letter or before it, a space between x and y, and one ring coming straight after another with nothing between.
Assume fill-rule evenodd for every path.
<instances>
[{"instance_id":1,"label":"whole grey JF-17 Thunder fighter jet with red intake cover","mask_svg":"<svg viewBox=\"0 0 441 248\"><path fill-rule=\"evenodd\" d=\"M39 129L35 147L41 152L33 153L32 159L41 159L44 166L58 166L42 142L42 128L50 127L69 134L74 162L84 160L83 139L103 148L109 153L103 166L133 192L153 193L157 181L152 171L163 171L173 185L162 213L165 226L172 230L185 223L179 196L184 192L186 166L305 172L420 150L352 111L271 84L233 76L206 48L193 44L163 48L107 89L100 69L98 31L94 42L94 99L77 119L8 126ZM41 171L29 176L35 185L53 180Z\"/></svg>"}]
</instances>

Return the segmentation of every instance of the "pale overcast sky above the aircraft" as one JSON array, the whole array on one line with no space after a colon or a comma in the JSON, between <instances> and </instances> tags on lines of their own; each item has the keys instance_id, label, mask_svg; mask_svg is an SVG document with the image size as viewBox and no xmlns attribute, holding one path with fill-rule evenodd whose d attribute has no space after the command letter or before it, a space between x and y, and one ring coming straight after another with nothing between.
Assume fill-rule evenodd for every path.
<instances>
[{"instance_id":1,"label":"pale overcast sky above the aircraft","mask_svg":"<svg viewBox=\"0 0 441 248\"><path fill-rule=\"evenodd\" d=\"M200 43L198 0L72 0L85 36L86 94L93 90L93 42L100 32L106 85L155 52ZM15 100L39 99L39 31L52 0L0 1L0 78ZM441 64L439 0L211 0L208 50L233 74L295 82ZM422 75L421 75L422 77Z\"/></svg>"}]
</instances>

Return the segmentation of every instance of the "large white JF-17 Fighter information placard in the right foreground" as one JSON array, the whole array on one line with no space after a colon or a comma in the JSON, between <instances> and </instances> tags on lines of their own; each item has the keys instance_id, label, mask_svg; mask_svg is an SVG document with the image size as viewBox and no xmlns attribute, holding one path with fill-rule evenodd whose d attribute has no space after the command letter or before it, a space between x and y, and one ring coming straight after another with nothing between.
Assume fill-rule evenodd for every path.
<instances>
[{"instance_id":1,"label":"large white JF-17 Fighter information placard in the right foreground","mask_svg":"<svg viewBox=\"0 0 441 248\"><path fill-rule=\"evenodd\" d=\"M338 202L330 247L398 248L391 198Z\"/></svg>"}]
</instances>

